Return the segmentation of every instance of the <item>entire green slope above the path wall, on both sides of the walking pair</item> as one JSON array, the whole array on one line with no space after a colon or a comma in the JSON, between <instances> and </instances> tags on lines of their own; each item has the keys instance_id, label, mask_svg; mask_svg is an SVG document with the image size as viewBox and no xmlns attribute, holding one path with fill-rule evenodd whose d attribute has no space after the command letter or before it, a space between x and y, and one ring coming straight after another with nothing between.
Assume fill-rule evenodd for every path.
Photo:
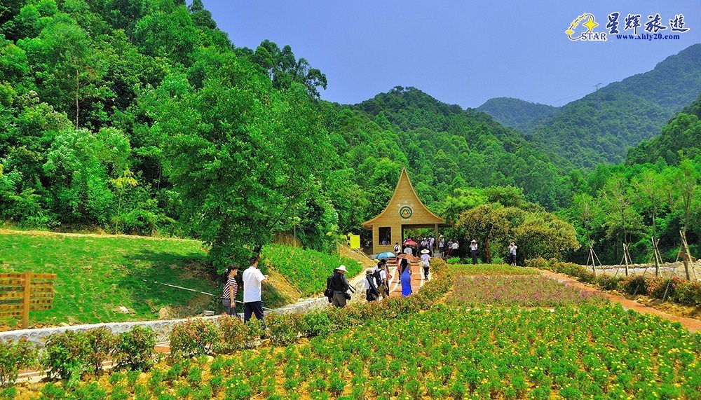
<instances>
[{"instance_id":1,"label":"entire green slope above the path wall, on both sides of the walking pair","mask_svg":"<svg viewBox=\"0 0 701 400\"><path fill-rule=\"evenodd\" d=\"M168 307L172 316L193 315L216 306L209 296L154 284L163 282L219 295L221 283L205 267L206 252L196 240L113 235L76 235L0 230L0 272L55 273L52 310L33 311L30 324L93 324L158 319ZM348 276L362 265L338 254L271 244L264 248L261 269L270 275L263 289L269 308L320 294L326 277L340 264ZM243 268L240 274L243 273ZM239 300L243 293L239 294ZM120 306L131 312L118 312ZM19 319L0 318L0 328L18 328Z\"/></svg>"}]
</instances>

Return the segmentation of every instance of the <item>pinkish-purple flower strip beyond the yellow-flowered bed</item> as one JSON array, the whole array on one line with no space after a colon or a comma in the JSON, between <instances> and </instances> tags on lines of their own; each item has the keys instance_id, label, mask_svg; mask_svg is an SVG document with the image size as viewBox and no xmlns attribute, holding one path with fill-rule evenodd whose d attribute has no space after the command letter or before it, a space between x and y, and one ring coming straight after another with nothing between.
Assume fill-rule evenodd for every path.
<instances>
[{"instance_id":1,"label":"pinkish-purple flower strip beyond the yellow-flowered bed","mask_svg":"<svg viewBox=\"0 0 701 400\"><path fill-rule=\"evenodd\" d=\"M581 303L607 303L600 294L566 287L556 280L540 276L464 276L456 277L449 305L555 307Z\"/></svg>"}]
</instances>

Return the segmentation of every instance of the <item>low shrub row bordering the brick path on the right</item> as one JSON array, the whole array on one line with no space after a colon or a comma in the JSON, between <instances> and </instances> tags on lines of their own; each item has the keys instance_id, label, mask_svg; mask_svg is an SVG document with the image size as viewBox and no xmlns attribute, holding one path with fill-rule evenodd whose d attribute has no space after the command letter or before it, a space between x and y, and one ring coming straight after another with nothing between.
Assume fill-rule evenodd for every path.
<instances>
[{"instance_id":1,"label":"low shrub row bordering the brick path on the right","mask_svg":"<svg viewBox=\"0 0 701 400\"><path fill-rule=\"evenodd\" d=\"M618 290L633 296L642 294L685 305L701 305L701 282L681 280L677 277L655 277L653 275L631 275L628 277L597 276L584 265L563 263L555 259L536 258L528 260L526 263L532 268L540 268L576 277L580 282L596 284L604 290Z\"/></svg>"}]
</instances>

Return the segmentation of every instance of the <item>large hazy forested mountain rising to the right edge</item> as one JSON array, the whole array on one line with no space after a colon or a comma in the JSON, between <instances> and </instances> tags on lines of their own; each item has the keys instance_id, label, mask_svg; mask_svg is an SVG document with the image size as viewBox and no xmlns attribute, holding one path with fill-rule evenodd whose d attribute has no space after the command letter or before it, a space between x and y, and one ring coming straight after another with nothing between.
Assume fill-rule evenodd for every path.
<instances>
[{"instance_id":1,"label":"large hazy forested mountain rising to the right edge","mask_svg":"<svg viewBox=\"0 0 701 400\"><path fill-rule=\"evenodd\" d=\"M491 100L480 109L491 111L505 125L520 127L529 142L569 160L570 167L591 169L598 163L622 162L628 149L658 135L667 120L699 93L701 44L695 44L667 57L652 71L611 83L560 107L550 118L541 118L542 107L518 102L511 102L513 114L505 115Z\"/></svg>"}]
</instances>

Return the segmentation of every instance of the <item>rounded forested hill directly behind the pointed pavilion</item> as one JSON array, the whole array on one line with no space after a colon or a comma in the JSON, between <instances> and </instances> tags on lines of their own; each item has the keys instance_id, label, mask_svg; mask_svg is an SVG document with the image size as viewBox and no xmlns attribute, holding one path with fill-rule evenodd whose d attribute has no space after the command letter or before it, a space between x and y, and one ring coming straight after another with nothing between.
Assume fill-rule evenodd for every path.
<instances>
[{"instance_id":1,"label":"rounded forested hill directly behind the pointed pavilion","mask_svg":"<svg viewBox=\"0 0 701 400\"><path fill-rule=\"evenodd\" d=\"M365 177L374 160L387 158L395 170L407 165L416 190L428 204L463 186L519 186L526 198L553 209L566 203L564 172L536 151L515 130L473 109L445 104L416 88L397 86L353 106L339 106L341 115L358 118L343 128L350 165ZM345 111L347 110L347 111ZM346 123L348 125L348 122ZM334 129L329 127L329 130ZM367 135L375 131L374 135ZM370 185L371 187L374 185ZM393 186L389 186L393 189ZM381 203L389 196L381 197ZM374 212L381 211L384 204Z\"/></svg>"}]
</instances>

